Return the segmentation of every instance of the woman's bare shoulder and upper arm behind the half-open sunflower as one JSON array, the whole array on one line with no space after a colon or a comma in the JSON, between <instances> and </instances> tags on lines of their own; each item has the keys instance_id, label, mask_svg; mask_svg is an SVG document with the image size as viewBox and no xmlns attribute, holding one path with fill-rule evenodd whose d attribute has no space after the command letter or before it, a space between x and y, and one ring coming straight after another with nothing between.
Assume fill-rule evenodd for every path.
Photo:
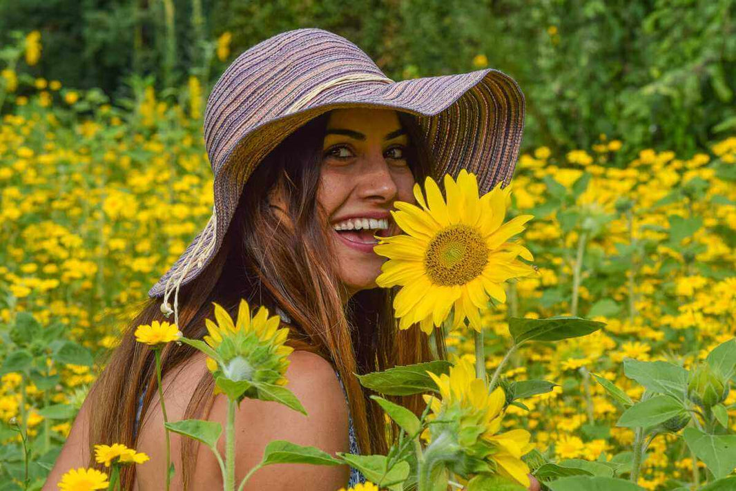
<instances>
[{"instance_id":1,"label":"woman's bare shoulder and upper arm behind the half-open sunflower","mask_svg":"<svg viewBox=\"0 0 736 491\"><path fill-rule=\"evenodd\" d=\"M289 356L286 387L299 398L308 416L272 401L244 399L236 413L236 487L248 471L261 462L266 445L275 439L298 445L311 445L330 455L348 452L347 404L332 366L324 358L306 351ZM227 419L227 399L219 395L209 418L224 428ZM224 436L218 443L224 456ZM335 491L350 478L347 465L322 466L309 464L273 464L257 470L244 487L255 490ZM197 472L195 490L211 491L211 473ZM222 479L217 479L222 486Z\"/></svg>"}]
</instances>

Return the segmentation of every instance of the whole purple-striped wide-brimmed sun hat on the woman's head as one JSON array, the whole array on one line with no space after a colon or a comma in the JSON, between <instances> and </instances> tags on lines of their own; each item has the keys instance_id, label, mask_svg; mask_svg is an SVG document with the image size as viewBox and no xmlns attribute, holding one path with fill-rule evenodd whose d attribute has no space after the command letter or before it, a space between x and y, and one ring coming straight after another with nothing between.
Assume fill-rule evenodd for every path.
<instances>
[{"instance_id":1,"label":"whole purple-striped wide-brimmed sun hat on the woman's head","mask_svg":"<svg viewBox=\"0 0 736 491\"><path fill-rule=\"evenodd\" d=\"M214 206L207 225L148 292L163 295L167 316L169 294L175 290L177 311L180 286L197 278L219 250L255 166L302 124L341 107L416 116L437 177L467 169L484 193L500 181L508 184L514 172L524 96L508 75L486 68L394 82L342 36L316 28L282 32L238 56L210 92L204 137Z\"/></svg>"}]
</instances>

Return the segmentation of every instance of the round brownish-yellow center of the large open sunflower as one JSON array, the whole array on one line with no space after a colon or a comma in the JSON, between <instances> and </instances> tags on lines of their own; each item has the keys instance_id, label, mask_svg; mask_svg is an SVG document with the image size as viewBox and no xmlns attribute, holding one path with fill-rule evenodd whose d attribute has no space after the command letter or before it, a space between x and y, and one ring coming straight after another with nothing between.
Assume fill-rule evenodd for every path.
<instances>
[{"instance_id":1,"label":"round brownish-yellow center of the large open sunflower","mask_svg":"<svg viewBox=\"0 0 736 491\"><path fill-rule=\"evenodd\" d=\"M478 278L488 263L483 236L470 225L452 225L434 236L424 255L424 266L435 285L464 285Z\"/></svg>"}]
</instances>

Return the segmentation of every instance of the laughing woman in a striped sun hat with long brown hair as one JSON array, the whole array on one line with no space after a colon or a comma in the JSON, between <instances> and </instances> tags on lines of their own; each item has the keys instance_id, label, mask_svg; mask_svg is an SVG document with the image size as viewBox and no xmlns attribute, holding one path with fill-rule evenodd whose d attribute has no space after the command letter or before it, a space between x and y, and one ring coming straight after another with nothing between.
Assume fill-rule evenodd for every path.
<instances>
[{"instance_id":1,"label":"laughing woman in a striped sun hat with long brown hair","mask_svg":"<svg viewBox=\"0 0 736 491\"><path fill-rule=\"evenodd\" d=\"M275 66L263 66L263 60ZM299 68L301 60L310 61ZM326 81L316 77L335 67L350 68L351 60L361 69L357 77L354 71L330 72ZM286 76L289 80L275 75L277 68L287 67L297 75ZM261 83L266 75L273 79L271 90ZM490 158L492 165L479 172L487 177L481 183L508 179L523 124L520 92L515 102L498 105L504 100L501 82L513 88L500 72L461 74L439 84L387 80L357 46L322 29L277 35L227 69L205 112L216 213L149 292L152 299L132 320L82 406L48 483L71 467L90 464L91 444L121 442L151 456L145 464L125 467L124 489L163 489L163 417L153 356L135 342L132 331L167 319L159 308L171 313L174 279L174 319L189 338L206 333L204 319L213 317L213 302L235 317L241 298L278 312L291 331L288 344L295 351L286 378L308 417L277 403L244 400L236 416L236 481L260 462L272 439L328 453L386 452L391 435L383 431L383 413L352 374L444 358L445 347L442 336L434 336L431 345L418 328L397 330L393 293L375 285L383 258L372 252L373 236L400 232L389 211L396 200L413 202L414 183L428 174L442 175L459 163L484 165ZM294 94L294 86L305 90ZM421 91L431 88L437 92ZM244 92L250 99L241 98ZM253 102L259 93L273 102L266 110L262 102ZM508 93L505 98L508 102ZM473 112L491 102L492 115ZM463 107L456 116L448 112ZM444 117L434 116L445 109ZM503 131L495 131L499 128ZM199 352L171 344L163 350L162 366L169 420L199 418L224 425L226 400L213 397L213 380ZM396 400L417 414L424 407L419 396ZM172 489L222 487L216 460L192 440L171 435L171 462L177 471ZM362 480L347 466L277 465L254 473L247 490L298 485L334 491L349 478L350 484Z\"/></svg>"}]
</instances>

